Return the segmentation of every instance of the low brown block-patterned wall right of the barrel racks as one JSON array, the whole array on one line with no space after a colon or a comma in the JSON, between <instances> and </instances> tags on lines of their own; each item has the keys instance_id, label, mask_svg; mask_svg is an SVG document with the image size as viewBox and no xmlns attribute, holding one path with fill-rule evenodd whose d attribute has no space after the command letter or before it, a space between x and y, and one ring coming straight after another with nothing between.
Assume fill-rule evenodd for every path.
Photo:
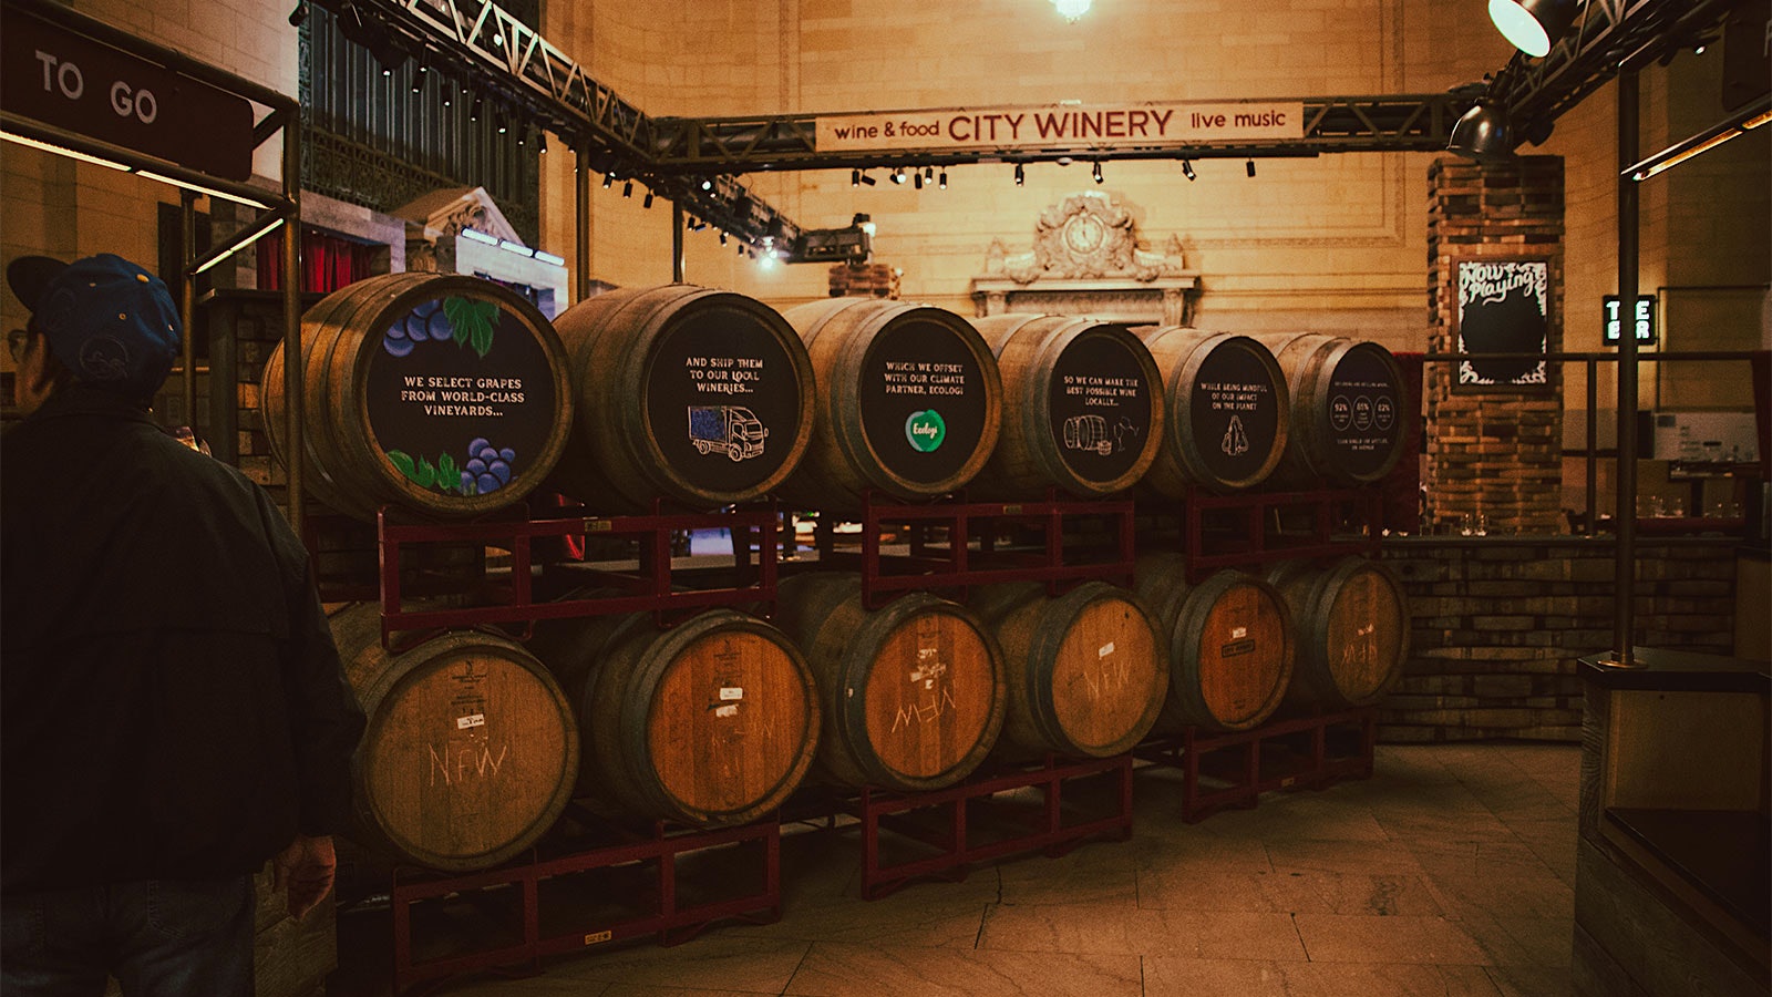
<instances>
[{"instance_id":1,"label":"low brown block-patterned wall right of the barrel racks","mask_svg":"<svg viewBox=\"0 0 1772 997\"><path fill-rule=\"evenodd\" d=\"M1733 653L1735 543L1637 548L1636 640ZM1379 708L1386 742L1581 742L1577 658L1613 646L1609 539L1393 539L1409 593L1409 665Z\"/></svg>"}]
</instances>

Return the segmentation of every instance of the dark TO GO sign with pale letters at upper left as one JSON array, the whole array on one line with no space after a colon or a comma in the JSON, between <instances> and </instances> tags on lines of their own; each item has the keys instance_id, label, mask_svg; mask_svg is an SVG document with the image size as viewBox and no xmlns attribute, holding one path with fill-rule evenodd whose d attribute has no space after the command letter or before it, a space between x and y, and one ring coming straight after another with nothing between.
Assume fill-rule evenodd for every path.
<instances>
[{"instance_id":1,"label":"dark TO GO sign with pale letters at upper left","mask_svg":"<svg viewBox=\"0 0 1772 997\"><path fill-rule=\"evenodd\" d=\"M245 98L12 7L0 7L0 105L209 176L252 176Z\"/></svg>"}]
</instances>

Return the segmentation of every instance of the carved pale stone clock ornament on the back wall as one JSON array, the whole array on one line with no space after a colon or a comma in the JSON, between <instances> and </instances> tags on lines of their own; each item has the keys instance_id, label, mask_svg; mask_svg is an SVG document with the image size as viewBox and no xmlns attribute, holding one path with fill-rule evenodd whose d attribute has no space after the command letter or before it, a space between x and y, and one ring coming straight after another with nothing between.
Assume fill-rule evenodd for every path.
<instances>
[{"instance_id":1,"label":"carved pale stone clock ornament on the back wall","mask_svg":"<svg viewBox=\"0 0 1772 997\"><path fill-rule=\"evenodd\" d=\"M1184 270L1182 241L1171 234L1162 248L1162 254L1138 248L1132 215L1106 193L1090 190L1040 213L1033 227L1033 252L1008 255L1003 243L992 239L985 273L1015 284L1054 277L1129 277L1138 282L1178 277Z\"/></svg>"}]
</instances>

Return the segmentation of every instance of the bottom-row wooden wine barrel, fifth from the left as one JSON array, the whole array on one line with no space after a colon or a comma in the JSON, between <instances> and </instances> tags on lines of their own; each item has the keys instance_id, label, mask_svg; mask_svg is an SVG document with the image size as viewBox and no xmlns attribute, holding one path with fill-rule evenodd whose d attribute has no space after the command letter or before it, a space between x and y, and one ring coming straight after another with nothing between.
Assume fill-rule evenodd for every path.
<instances>
[{"instance_id":1,"label":"bottom-row wooden wine barrel, fifth from the left","mask_svg":"<svg viewBox=\"0 0 1772 997\"><path fill-rule=\"evenodd\" d=\"M1290 610L1272 585L1232 569L1191 585L1177 553L1139 557L1136 578L1170 651L1159 731L1247 731L1279 710L1295 644Z\"/></svg>"}]
</instances>

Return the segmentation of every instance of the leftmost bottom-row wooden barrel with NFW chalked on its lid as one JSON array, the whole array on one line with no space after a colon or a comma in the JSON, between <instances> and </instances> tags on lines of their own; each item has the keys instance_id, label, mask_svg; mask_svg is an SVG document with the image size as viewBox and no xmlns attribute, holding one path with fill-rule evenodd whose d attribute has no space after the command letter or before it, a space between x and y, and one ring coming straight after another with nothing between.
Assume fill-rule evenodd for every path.
<instances>
[{"instance_id":1,"label":"leftmost bottom-row wooden barrel with NFW chalked on its lid","mask_svg":"<svg viewBox=\"0 0 1772 997\"><path fill-rule=\"evenodd\" d=\"M553 827L578 775L565 692L521 644L447 632L381 646L381 610L331 617L369 726L351 766L365 846L418 866L496 866Z\"/></svg>"}]
</instances>

